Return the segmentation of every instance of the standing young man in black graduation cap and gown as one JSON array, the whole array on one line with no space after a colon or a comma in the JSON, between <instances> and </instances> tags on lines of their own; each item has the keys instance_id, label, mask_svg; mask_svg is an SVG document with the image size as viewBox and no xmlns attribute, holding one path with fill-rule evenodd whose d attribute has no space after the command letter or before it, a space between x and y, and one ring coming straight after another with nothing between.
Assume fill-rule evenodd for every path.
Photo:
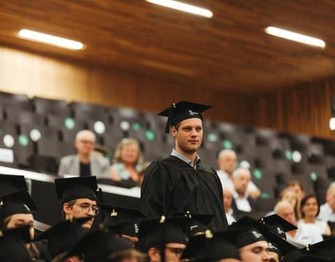
<instances>
[{"instance_id":1,"label":"standing young man in black graduation cap and gown","mask_svg":"<svg viewBox=\"0 0 335 262\"><path fill-rule=\"evenodd\" d=\"M158 114L168 117L165 133L171 127L176 148L170 157L151 163L144 173L140 209L148 217L187 211L214 214L208 228L218 231L227 227L221 182L197 154L203 133L201 112L209 108L181 101Z\"/></svg>"}]
</instances>

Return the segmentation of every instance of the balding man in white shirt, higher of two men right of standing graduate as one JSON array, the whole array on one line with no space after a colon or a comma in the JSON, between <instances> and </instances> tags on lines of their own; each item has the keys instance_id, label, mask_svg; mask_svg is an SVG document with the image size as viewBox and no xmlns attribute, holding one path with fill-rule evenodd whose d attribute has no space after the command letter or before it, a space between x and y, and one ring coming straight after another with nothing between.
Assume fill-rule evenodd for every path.
<instances>
[{"instance_id":1,"label":"balding man in white shirt, higher of two men right of standing graduate","mask_svg":"<svg viewBox=\"0 0 335 262\"><path fill-rule=\"evenodd\" d=\"M230 191L234 190L234 182L232 180L232 173L236 169L237 155L233 150L222 150L218 154L218 168L216 172L218 177L220 177L222 187L228 187ZM260 189L258 189L255 184L250 181L248 183L248 195L252 198L258 198L260 196Z\"/></svg>"}]
</instances>

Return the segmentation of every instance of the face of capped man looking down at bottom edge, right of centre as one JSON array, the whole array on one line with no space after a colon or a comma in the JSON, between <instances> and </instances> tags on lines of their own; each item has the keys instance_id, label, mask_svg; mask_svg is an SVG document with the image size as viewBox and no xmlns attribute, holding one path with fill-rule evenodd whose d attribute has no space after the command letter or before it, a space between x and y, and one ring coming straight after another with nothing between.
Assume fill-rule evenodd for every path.
<instances>
[{"instance_id":1,"label":"face of capped man looking down at bottom edge, right of centre","mask_svg":"<svg viewBox=\"0 0 335 262\"><path fill-rule=\"evenodd\" d=\"M258 241L239 249L242 262L265 262L269 261L269 245L266 241Z\"/></svg>"}]
</instances>

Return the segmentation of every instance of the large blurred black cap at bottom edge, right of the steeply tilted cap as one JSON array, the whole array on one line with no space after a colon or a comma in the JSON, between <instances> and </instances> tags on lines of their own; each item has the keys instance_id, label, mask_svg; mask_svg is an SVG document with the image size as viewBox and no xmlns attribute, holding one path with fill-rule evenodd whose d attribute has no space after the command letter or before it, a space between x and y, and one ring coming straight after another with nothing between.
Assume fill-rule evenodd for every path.
<instances>
[{"instance_id":1,"label":"large blurred black cap at bottom edge, right of the steeply tilted cap","mask_svg":"<svg viewBox=\"0 0 335 262\"><path fill-rule=\"evenodd\" d=\"M111 254L128 249L133 249L131 242L117 238L107 230L99 229L87 233L68 252L68 256L84 254L85 261L105 261Z\"/></svg>"}]
</instances>

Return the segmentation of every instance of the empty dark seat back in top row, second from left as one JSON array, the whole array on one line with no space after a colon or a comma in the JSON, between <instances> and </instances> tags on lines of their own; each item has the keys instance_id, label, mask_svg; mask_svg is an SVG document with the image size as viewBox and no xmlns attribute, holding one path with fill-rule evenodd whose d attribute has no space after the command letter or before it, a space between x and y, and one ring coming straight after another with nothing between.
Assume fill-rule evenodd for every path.
<instances>
[{"instance_id":1,"label":"empty dark seat back in top row, second from left","mask_svg":"<svg viewBox=\"0 0 335 262\"><path fill-rule=\"evenodd\" d=\"M65 100L43 99L35 96L32 100L35 112L40 114L64 115L70 117L71 110Z\"/></svg>"}]
</instances>

